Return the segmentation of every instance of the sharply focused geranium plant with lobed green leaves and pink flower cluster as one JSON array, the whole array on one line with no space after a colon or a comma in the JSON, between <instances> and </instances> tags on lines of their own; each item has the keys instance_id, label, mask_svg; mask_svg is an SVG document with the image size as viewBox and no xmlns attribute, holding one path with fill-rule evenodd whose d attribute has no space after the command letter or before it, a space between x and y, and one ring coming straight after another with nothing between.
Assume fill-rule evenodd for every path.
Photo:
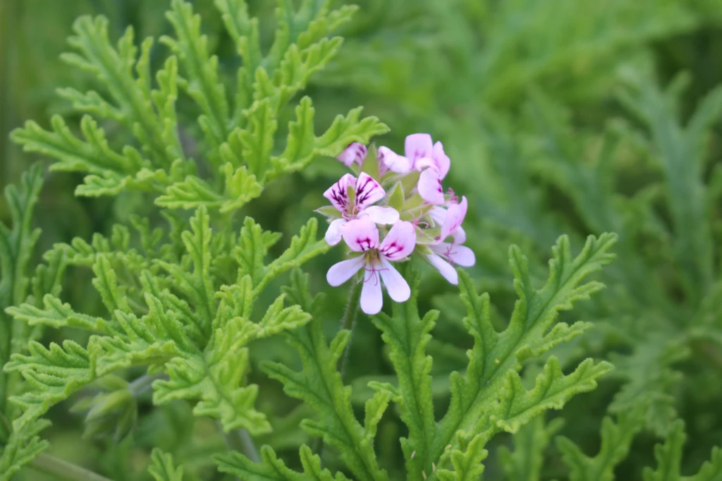
<instances>
[{"instance_id":1,"label":"sharply focused geranium plant with lobed green leaves and pink flower cluster","mask_svg":"<svg viewBox=\"0 0 722 481\"><path fill-rule=\"evenodd\" d=\"M411 134L404 155L368 147L388 127L360 108L317 134L312 100L296 97L339 51L341 38L330 35L355 12L330 3L279 1L266 45L243 0L217 0L240 56L235 71L219 64L182 0L170 2L173 34L161 38L160 63L153 39L136 45L129 28L113 45L107 20L77 21L64 60L89 72L97 90L58 92L82 113L79 126L55 116L51 129L28 121L12 137L55 160L51 171L83 173L77 196L110 196L133 212L109 235L56 243L33 267L45 170L33 166L6 191L1 479L40 471L69 480L478 480L492 438L561 409L611 370L586 359L564 373L547 352L591 327L558 313L603 287L588 277L613 260L613 234L589 237L576 255L560 237L543 285L512 246L518 300L497 326L489 295L456 268L473 266L475 255L461 227L468 201L443 188L453 168L443 145ZM251 217L253 199L333 157L352 173L314 197L330 221L325 238L308 209L300 232L277 248L282 236ZM287 202L302 188L284 189ZM341 311L326 302L336 290L311 274L331 246L348 251L326 273L334 287L351 281ZM86 312L68 291L91 287L66 282L82 269L97 293ZM438 311L420 313L417 299L422 277L437 271L458 286L469 350L464 369L432 376ZM387 356L393 376L368 382L355 410L345 374L361 323L378 329L383 346L367 354ZM541 371L523 381L534 359ZM450 386L448 405L433 398L438 378ZM82 417L84 436L100 440L110 461L60 459L46 434L53 407ZM149 434L160 423L149 411L175 416L165 441ZM123 457L129 446L142 462ZM389 457L389 446L401 454Z\"/></svg>"}]
</instances>

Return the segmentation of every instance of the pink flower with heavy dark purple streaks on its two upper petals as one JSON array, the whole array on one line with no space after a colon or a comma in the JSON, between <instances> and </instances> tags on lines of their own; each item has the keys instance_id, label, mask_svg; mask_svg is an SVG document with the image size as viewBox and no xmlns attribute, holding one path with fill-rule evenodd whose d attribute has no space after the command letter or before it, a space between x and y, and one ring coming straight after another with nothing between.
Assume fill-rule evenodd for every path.
<instances>
[{"instance_id":1,"label":"pink flower with heavy dark purple streaks on its two upper petals","mask_svg":"<svg viewBox=\"0 0 722 481\"><path fill-rule=\"evenodd\" d=\"M353 200L349 198L349 188L355 194ZM329 246L335 246L341 241L342 229L350 220L368 219L378 224L393 224L399 220L396 209L372 205L383 199L386 191L365 172L360 173L359 178L351 174L344 175L323 196L341 213L341 217L332 220L329 230L326 230Z\"/></svg>"}]
</instances>

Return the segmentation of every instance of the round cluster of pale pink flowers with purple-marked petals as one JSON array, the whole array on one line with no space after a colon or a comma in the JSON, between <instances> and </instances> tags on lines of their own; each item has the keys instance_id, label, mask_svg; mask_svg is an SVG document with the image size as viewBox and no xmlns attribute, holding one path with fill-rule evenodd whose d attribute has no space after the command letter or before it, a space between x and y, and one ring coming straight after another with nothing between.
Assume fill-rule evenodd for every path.
<instances>
[{"instance_id":1,"label":"round cluster of pale pink flowers with purple-marked petals","mask_svg":"<svg viewBox=\"0 0 722 481\"><path fill-rule=\"evenodd\" d=\"M388 147L369 151L355 142L338 158L353 174L345 174L323 194L331 205L318 212L330 222L326 242L335 246L343 239L352 256L329 269L329 284L342 285L363 269L361 308L378 313L382 283L396 302L409 299L409 284L391 263L414 252L458 284L454 264L470 267L475 258L462 245L466 197L460 200L442 187L451 160L441 142L434 144L429 134L409 135L404 155Z\"/></svg>"}]
</instances>

